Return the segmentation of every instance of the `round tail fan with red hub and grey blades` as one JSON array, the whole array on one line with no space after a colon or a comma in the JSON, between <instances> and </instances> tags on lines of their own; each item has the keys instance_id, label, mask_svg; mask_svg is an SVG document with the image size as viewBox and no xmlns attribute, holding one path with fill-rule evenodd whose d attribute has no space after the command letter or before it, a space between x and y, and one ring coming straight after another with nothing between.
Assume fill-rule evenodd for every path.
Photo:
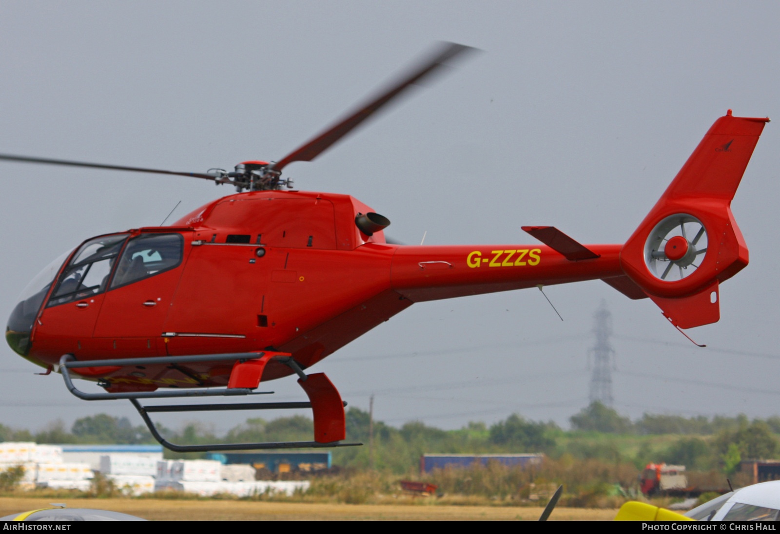
<instances>
[{"instance_id":1,"label":"round tail fan with red hub and grey blades","mask_svg":"<svg viewBox=\"0 0 780 534\"><path fill-rule=\"evenodd\" d=\"M707 229L689 214L674 214L658 223L645 242L645 263L656 278L689 277L707 254Z\"/></svg>"}]
</instances>

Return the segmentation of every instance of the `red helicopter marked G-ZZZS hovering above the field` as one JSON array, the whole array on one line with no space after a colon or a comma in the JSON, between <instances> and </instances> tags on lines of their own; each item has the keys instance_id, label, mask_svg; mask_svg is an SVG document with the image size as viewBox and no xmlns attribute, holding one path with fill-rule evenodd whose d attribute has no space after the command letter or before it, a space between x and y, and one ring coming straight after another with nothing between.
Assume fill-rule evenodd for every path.
<instances>
[{"instance_id":1,"label":"red helicopter marked G-ZZZS hovering above the field","mask_svg":"<svg viewBox=\"0 0 780 534\"><path fill-rule=\"evenodd\" d=\"M719 319L718 285L746 267L730 205L768 118L731 110L714 122L624 244L583 245L554 227L524 226L539 244L403 246L386 217L352 196L293 190L282 169L311 161L410 86L473 48L445 43L378 97L278 162L234 172L168 172L0 154L39 164L184 175L238 193L171 226L87 239L30 282L5 338L24 358L62 373L86 400L125 398L175 451L337 447L344 403L324 373L304 370L415 302L601 279L649 297L678 329ZM76 377L105 393L86 393ZM296 374L308 402L141 405L140 399L261 394ZM151 412L312 408L314 441L184 446Z\"/></svg>"}]
</instances>

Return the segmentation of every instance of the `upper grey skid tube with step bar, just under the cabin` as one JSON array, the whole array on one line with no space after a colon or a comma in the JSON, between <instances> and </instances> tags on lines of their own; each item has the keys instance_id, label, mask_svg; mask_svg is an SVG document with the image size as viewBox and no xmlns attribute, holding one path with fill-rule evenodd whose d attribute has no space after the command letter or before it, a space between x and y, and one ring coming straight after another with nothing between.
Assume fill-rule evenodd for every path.
<instances>
[{"instance_id":1,"label":"upper grey skid tube with step bar, just under the cabin","mask_svg":"<svg viewBox=\"0 0 780 534\"><path fill-rule=\"evenodd\" d=\"M81 391L71 380L69 369L80 369L83 367L103 367L103 366L136 366L148 365L152 363L192 363L192 362L217 362L221 360L237 360L257 358L255 352L241 352L237 354L210 354L197 356L158 356L156 358L127 358L127 359L98 359L89 362L76 362L72 354L63 355L59 359L59 370L62 373L62 380L73 395L83 401L109 401L119 398L179 398L179 397L235 397L236 395L264 395L271 394L273 391L252 391L246 387L236 387L233 389L203 389L203 390L180 390L180 391L132 391L128 393L87 393ZM262 355L262 353L259 353Z\"/></svg>"}]
</instances>

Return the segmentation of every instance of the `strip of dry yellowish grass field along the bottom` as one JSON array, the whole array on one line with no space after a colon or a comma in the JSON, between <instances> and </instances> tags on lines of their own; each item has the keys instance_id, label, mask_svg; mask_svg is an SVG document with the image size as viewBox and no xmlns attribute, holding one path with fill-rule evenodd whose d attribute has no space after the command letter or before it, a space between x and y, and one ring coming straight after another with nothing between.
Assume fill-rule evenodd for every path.
<instances>
[{"instance_id":1,"label":"strip of dry yellowish grass field along the bottom","mask_svg":"<svg viewBox=\"0 0 780 534\"><path fill-rule=\"evenodd\" d=\"M382 504L269 503L243 500L44 499L0 497L0 517L65 502L157 521L536 521L542 508ZM616 510L556 508L550 521L608 521Z\"/></svg>"}]
</instances>

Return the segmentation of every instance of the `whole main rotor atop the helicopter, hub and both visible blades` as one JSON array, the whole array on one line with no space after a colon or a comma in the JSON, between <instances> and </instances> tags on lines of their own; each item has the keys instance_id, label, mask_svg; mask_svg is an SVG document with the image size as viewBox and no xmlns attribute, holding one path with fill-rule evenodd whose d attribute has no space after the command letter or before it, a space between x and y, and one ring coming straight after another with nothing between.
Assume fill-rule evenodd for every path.
<instances>
[{"instance_id":1,"label":"whole main rotor atop the helicopter, hub and both visible blades","mask_svg":"<svg viewBox=\"0 0 780 534\"><path fill-rule=\"evenodd\" d=\"M175 172L164 171L161 169L128 167L124 165L109 165L100 163L88 163L84 161L56 160L45 157L19 156L15 154L0 154L0 160L19 161L22 163L38 163L49 165L64 165L69 167L99 168L112 171L130 171L130 172L150 172L160 175L178 175L188 176L190 178L201 178L212 180L217 184L231 184L236 186L239 192L243 189L250 191L266 189L282 189L282 187L293 187L292 180L282 180L282 168L293 161L312 161L315 157L322 154L325 150L332 147L343 136L359 126L367 118L370 118L381 108L384 108L391 102L398 101L398 97L413 85L419 85L425 80L430 80L434 74L441 70L469 51L475 51L476 48L464 46L463 44L441 43L431 55L428 55L420 63L417 63L399 76L394 83L381 93L361 105L342 121L326 129L319 136L303 144L302 147L287 154L276 163L266 161L244 161L236 165L234 172L227 172L223 169L209 169L208 172Z\"/></svg>"}]
</instances>

